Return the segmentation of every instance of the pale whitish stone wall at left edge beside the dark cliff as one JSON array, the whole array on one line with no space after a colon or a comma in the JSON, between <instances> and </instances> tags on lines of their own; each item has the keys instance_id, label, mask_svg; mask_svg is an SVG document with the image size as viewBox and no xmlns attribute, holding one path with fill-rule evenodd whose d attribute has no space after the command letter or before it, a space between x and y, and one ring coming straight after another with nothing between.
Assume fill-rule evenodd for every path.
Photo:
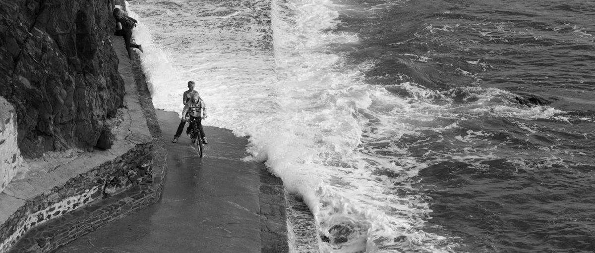
<instances>
[{"instance_id":1,"label":"pale whitish stone wall at left edge beside the dark cliff","mask_svg":"<svg viewBox=\"0 0 595 253\"><path fill-rule=\"evenodd\" d=\"M16 119L14 107L0 97L0 192L4 191L23 163L17 144Z\"/></svg>"}]
</instances>

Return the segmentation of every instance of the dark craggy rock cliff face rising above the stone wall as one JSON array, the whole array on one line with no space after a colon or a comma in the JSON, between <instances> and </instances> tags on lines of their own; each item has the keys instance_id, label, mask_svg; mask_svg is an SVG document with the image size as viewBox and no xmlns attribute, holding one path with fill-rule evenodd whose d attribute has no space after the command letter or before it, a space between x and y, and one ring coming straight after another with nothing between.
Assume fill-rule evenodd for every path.
<instances>
[{"instance_id":1,"label":"dark craggy rock cliff face rising above the stone wall","mask_svg":"<svg viewBox=\"0 0 595 253\"><path fill-rule=\"evenodd\" d=\"M95 146L123 103L111 1L2 0L0 96L25 157Z\"/></svg>"}]
</instances>

